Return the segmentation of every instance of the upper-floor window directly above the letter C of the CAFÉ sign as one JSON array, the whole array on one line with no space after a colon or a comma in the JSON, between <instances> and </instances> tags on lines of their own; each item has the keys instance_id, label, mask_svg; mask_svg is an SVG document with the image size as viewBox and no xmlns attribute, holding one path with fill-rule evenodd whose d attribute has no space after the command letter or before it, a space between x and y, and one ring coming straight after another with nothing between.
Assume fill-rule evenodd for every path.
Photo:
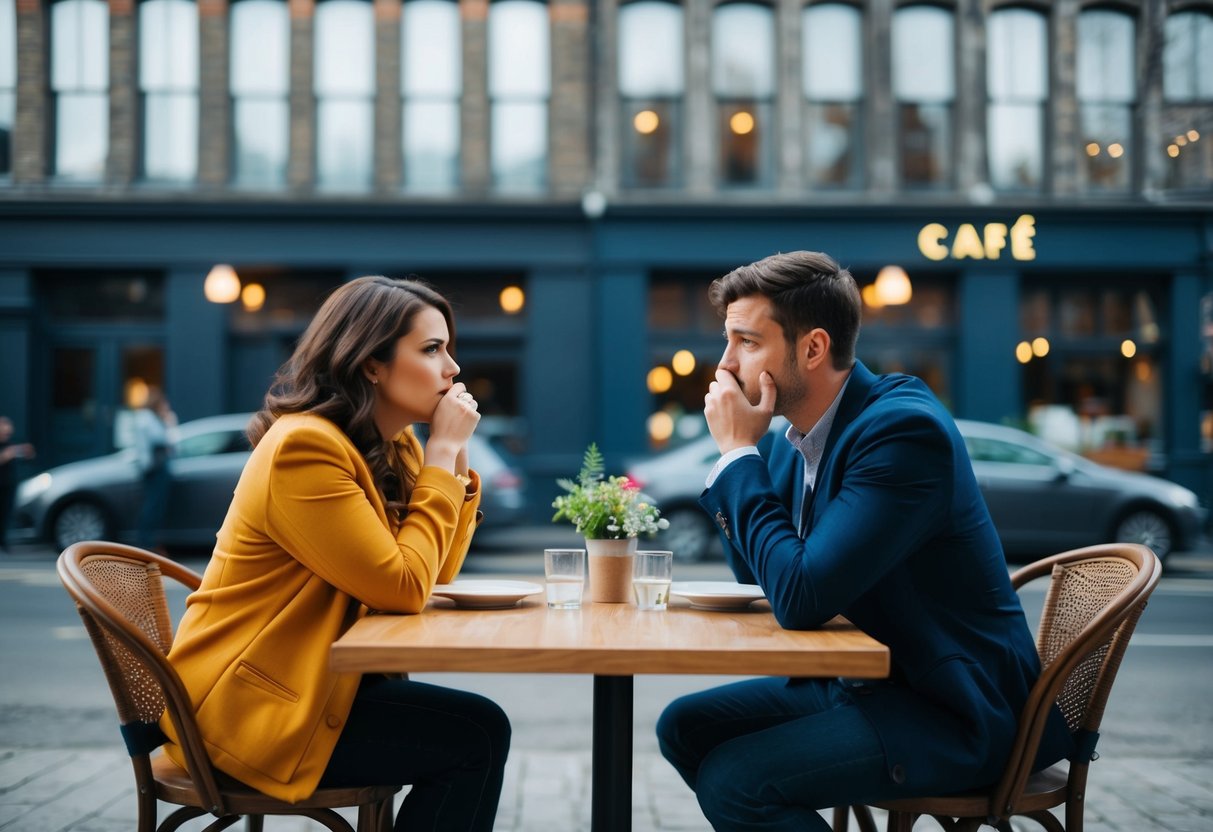
<instances>
[{"instance_id":1,"label":"upper-floor window directly above the letter C of the CAF\u00c9 sign","mask_svg":"<svg viewBox=\"0 0 1213 832\"><path fill-rule=\"evenodd\" d=\"M955 22L934 6L893 15L893 96L898 102L901 183L952 183L952 102L956 98Z\"/></svg>"}]
</instances>

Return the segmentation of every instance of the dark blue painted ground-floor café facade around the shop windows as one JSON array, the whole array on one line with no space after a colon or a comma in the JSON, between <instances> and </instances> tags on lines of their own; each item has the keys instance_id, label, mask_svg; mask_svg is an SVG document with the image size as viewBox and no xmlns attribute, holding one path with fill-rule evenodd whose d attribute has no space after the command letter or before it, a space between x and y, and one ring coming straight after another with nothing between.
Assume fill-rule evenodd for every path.
<instances>
[{"instance_id":1,"label":"dark blue painted ground-floor caf\u00e9 facade around the shop windows","mask_svg":"<svg viewBox=\"0 0 1213 832\"><path fill-rule=\"evenodd\" d=\"M1025 213L1035 218L1031 260L1016 260L1009 244L998 247L997 233L980 258L953 256L962 226L980 237L986 224L1010 227ZM928 223L949 233L947 253L938 261L919 249ZM313 269L337 280L366 273L509 272L525 281L524 323L500 334L491 321L460 326L482 358L491 357L495 344L513 344L507 352L517 364L514 415L526 426L524 465L542 490L576 469L591 440L611 463L650 450L645 420L654 400L645 375L659 337L648 324L654 274L702 274L706 291L711 277L795 249L827 251L856 275L888 263L902 266L911 278L941 275L955 309L939 336L949 404L958 417L995 422L1024 416L1013 347L1025 284L1116 280L1156 290L1164 324L1157 344L1163 473L1206 498L1213 495L1213 455L1201 440L1201 414L1213 409L1213 335L1202 335L1201 320L1201 300L1213 292L1213 207L1207 205L633 205L587 218L576 204L6 203L0 204L0 412L13 417L18 437L47 449L45 460L56 448L64 449L64 458L72 448L107 450L98 445L104 432L96 440L68 435L72 426L52 418L47 344L73 340L163 346L165 386L182 420L249 406L289 348L290 334L262 353L237 351L226 310L203 296L216 262L238 272ZM159 318L124 321L119 315L104 326L53 319L41 275L97 269L158 275L164 286ZM439 287L445 286L439 281ZM861 357L866 336L860 335ZM884 338L887 349L899 347L896 334L882 336L873 327L872 338ZM718 341L705 334L691 346L704 363ZM116 359L103 353L90 360L113 365Z\"/></svg>"}]
</instances>

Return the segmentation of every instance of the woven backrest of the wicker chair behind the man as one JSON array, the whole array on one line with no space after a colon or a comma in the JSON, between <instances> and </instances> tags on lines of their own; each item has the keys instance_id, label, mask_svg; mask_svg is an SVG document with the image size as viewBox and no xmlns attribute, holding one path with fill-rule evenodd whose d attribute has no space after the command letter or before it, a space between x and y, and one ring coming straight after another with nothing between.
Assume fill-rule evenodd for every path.
<instances>
[{"instance_id":1,"label":"woven backrest of the wicker chair behind the man","mask_svg":"<svg viewBox=\"0 0 1213 832\"><path fill-rule=\"evenodd\" d=\"M995 817L1014 813L1054 703L1075 735L1071 770L1090 759L1121 659L1162 565L1145 546L1105 543L1037 560L1010 580L1018 589L1044 575L1050 581L1036 639L1041 677L1020 714L1014 750L991 799Z\"/></svg>"}]
</instances>

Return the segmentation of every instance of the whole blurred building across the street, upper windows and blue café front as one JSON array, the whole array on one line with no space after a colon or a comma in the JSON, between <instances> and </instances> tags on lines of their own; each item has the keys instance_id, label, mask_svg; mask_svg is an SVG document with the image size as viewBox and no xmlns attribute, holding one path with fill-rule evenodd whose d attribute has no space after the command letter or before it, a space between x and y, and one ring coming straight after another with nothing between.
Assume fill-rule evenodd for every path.
<instances>
[{"instance_id":1,"label":"whole blurred building across the street, upper windows and blue caf\u00e9 front","mask_svg":"<svg viewBox=\"0 0 1213 832\"><path fill-rule=\"evenodd\" d=\"M542 491L701 432L707 284L792 249L873 370L1208 496L1213 4L0 0L41 466L148 386L256 409L335 285L417 273Z\"/></svg>"}]
</instances>

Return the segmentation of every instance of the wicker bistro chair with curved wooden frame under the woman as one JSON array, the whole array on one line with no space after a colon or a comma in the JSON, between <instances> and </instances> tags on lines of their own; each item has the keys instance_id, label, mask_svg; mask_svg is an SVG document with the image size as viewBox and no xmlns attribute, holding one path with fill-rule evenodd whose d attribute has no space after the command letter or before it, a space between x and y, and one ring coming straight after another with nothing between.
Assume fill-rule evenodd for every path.
<instances>
[{"instance_id":1,"label":"wicker bistro chair with curved wooden frame under the woman","mask_svg":"<svg viewBox=\"0 0 1213 832\"><path fill-rule=\"evenodd\" d=\"M241 816L258 832L264 815L301 815L335 832L354 832L334 809L358 807L358 832L387 832L398 787L320 788L298 803L263 794L216 770L206 756L189 694L165 659L172 626L163 577L189 589L197 572L132 546L89 541L69 547L58 560L59 580L75 599L109 682L138 788L138 832L171 832L211 814L206 832L224 830ZM152 756L166 741L159 728L169 714L181 736L186 768L166 754ZM156 800L180 805L156 827Z\"/></svg>"}]
</instances>

